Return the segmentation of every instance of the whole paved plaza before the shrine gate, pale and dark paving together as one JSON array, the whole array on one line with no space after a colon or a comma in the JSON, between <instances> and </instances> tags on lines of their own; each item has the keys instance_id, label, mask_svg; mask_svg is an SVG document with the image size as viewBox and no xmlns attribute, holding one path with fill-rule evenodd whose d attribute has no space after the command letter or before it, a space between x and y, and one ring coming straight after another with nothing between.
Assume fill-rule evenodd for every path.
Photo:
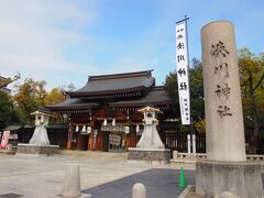
<instances>
[{"instance_id":1,"label":"whole paved plaza before the shrine gate, pale and dark paving together","mask_svg":"<svg viewBox=\"0 0 264 198\"><path fill-rule=\"evenodd\" d=\"M82 193L95 198L129 198L134 183L146 186L150 198L178 197L179 170L172 165L128 163L122 154L87 152L86 155L0 156L0 197L50 198L62 194L65 167L80 165ZM187 184L194 184L194 170L187 170Z\"/></svg>"}]
</instances>

